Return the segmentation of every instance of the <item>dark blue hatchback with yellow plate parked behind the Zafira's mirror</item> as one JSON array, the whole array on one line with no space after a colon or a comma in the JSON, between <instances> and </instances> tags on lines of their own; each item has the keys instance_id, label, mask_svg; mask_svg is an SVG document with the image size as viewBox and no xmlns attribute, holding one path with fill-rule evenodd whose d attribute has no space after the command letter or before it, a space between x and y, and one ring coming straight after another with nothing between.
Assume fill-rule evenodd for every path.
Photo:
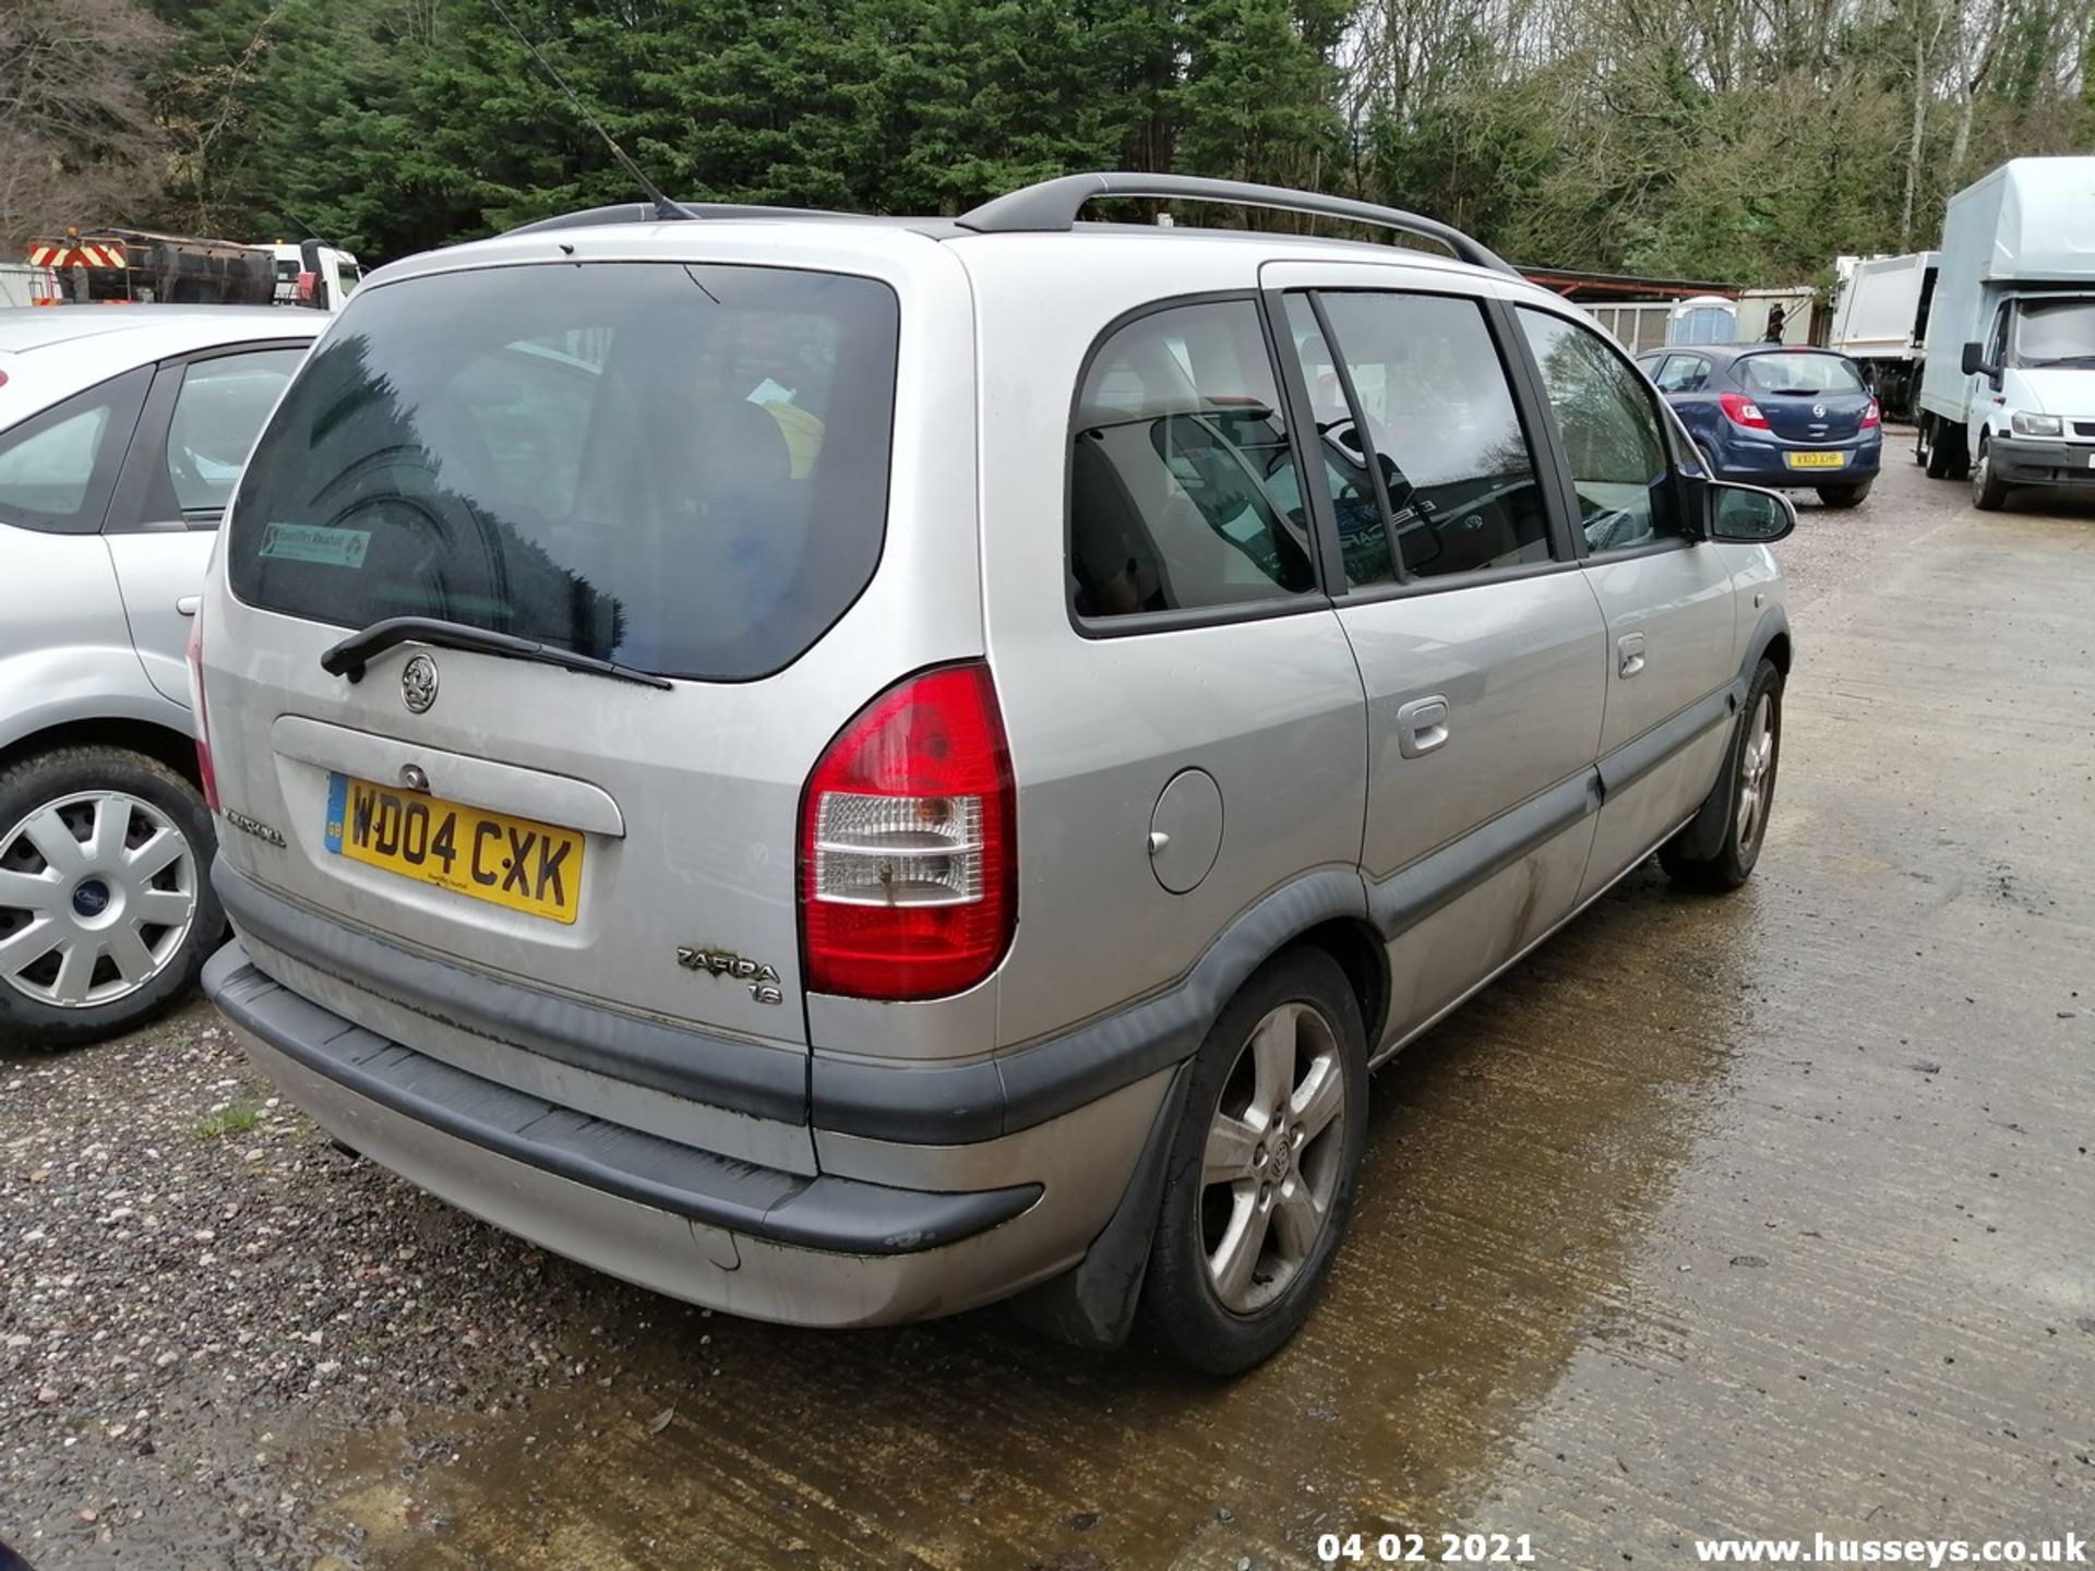
<instances>
[{"instance_id":1,"label":"dark blue hatchback with yellow plate parked behind the Zafira's mirror","mask_svg":"<svg viewBox=\"0 0 2095 1571\"><path fill-rule=\"evenodd\" d=\"M1810 488L1854 507L1883 463L1883 423L1846 354L1781 344L1674 346L1640 354L1718 480Z\"/></svg>"}]
</instances>

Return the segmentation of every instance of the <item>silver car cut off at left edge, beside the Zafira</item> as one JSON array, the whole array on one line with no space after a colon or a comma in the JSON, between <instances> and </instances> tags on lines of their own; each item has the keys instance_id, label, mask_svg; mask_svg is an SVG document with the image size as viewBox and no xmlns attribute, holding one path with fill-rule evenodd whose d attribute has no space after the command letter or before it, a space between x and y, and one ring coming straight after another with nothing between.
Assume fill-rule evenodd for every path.
<instances>
[{"instance_id":1,"label":"silver car cut off at left edge, beside the Zafira","mask_svg":"<svg viewBox=\"0 0 2095 1571\"><path fill-rule=\"evenodd\" d=\"M182 645L321 320L0 310L0 1041L140 1024L224 941Z\"/></svg>"}]
</instances>

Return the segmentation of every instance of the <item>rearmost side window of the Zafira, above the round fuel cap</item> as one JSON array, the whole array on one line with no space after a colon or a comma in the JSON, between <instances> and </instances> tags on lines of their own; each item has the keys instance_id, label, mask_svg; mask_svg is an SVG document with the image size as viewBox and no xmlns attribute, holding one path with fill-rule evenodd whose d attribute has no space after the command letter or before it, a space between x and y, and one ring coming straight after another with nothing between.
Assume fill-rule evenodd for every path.
<instances>
[{"instance_id":1,"label":"rearmost side window of the Zafira, above the round fuel cap","mask_svg":"<svg viewBox=\"0 0 2095 1571\"><path fill-rule=\"evenodd\" d=\"M1100 344L1071 434L1068 568L1085 618L1316 589L1253 302L1173 306Z\"/></svg>"}]
</instances>

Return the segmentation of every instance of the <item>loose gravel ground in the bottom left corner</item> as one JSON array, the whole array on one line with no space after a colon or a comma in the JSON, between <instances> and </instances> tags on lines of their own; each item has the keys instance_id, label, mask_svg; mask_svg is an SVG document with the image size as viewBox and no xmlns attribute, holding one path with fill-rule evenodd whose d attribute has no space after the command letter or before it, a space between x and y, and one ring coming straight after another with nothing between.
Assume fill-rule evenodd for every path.
<instances>
[{"instance_id":1,"label":"loose gravel ground in the bottom left corner","mask_svg":"<svg viewBox=\"0 0 2095 1571\"><path fill-rule=\"evenodd\" d=\"M622 1292L337 1150L203 1003L0 1047L0 1540L38 1571L310 1567L316 1445L392 1426L438 1460L610 1385Z\"/></svg>"}]
</instances>

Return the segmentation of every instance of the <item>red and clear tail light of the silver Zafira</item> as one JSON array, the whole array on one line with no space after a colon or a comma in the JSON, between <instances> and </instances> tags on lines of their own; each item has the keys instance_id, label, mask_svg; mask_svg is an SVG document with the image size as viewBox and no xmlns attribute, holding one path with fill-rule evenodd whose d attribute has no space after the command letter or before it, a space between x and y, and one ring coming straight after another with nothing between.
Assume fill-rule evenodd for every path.
<instances>
[{"instance_id":1,"label":"red and clear tail light of the silver Zafira","mask_svg":"<svg viewBox=\"0 0 2095 1571\"><path fill-rule=\"evenodd\" d=\"M1016 920L1016 792L989 666L909 677L859 710L807 783L807 987L960 993L1004 959Z\"/></svg>"}]
</instances>

